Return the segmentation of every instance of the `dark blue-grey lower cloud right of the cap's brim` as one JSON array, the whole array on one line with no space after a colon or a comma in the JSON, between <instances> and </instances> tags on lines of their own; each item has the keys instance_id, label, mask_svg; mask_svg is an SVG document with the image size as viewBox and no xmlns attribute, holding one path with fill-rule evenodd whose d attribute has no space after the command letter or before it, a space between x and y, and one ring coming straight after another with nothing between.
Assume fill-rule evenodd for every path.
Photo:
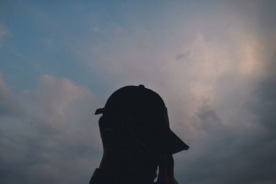
<instances>
[{"instance_id":1,"label":"dark blue-grey lower cloud right of the cap's brim","mask_svg":"<svg viewBox=\"0 0 276 184\"><path fill-rule=\"evenodd\" d=\"M199 108L194 125L200 134L191 140L193 147L185 156L177 155L181 163L176 164L181 170L180 183L275 183L276 139L275 129L270 126L274 125L272 104L275 100L271 95L268 95L269 105L261 100L267 97L263 92L271 94L275 86L259 84L257 89L262 91L257 101L264 104L248 102L247 110L254 109L257 116L249 125L244 122L224 125L217 111L206 104ZM264 111L257 113L256 109Z\"/></svg>"}]
</instances>

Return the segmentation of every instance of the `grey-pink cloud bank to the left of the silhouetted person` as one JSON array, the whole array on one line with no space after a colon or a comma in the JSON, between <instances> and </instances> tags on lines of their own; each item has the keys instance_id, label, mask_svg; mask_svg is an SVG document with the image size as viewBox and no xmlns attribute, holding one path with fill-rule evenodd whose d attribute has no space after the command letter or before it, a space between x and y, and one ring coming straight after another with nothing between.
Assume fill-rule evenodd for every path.
<instances>
[{"instance_id":1,"label":"grey-pink cloud bank to the left of the silhouetted person","mask_svg":"<svg viewBox=\"0 0 276 184\"><path fill-rule=\"evenodd\" d=\"M89 89L50 75L20 101L23 118L0 120L0 183L87 183L101 155L99 101Z\"/></svg>"}]
</instances>

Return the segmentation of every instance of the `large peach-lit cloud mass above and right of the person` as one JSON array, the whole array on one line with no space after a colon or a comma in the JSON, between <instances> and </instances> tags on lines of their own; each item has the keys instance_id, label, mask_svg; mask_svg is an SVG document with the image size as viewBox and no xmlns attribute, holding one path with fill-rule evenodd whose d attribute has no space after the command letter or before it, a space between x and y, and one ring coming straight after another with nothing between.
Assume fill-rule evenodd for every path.
<instances>
[{"instance_id":1,"label":"large peach-lit cloud mass above and right of the person","mask_svg":"<svg viewBox=\"0 0 276 184\"><path fill-rule=\"evenodd\" d=\"M275 35L262 34L256 4L236 6L174 25L173 35L126 30L83 57L110 91L145 84L164 98L190 145L176 155L179 183L275 182Z\"/></svg>"}]
</instances>

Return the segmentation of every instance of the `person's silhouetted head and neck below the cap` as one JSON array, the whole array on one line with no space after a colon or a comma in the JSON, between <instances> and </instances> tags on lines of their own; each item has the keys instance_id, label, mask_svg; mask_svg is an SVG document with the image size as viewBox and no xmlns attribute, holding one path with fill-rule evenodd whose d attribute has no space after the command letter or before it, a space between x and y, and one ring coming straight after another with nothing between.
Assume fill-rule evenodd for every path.
<instances>
[{"instance_id":1,"label":"person's silhouetted head and neck below the cap","mask_svg":"<svg viewBox=\"0 0 276 184\"><path fill-rule=\"evenodd\" d=\"M161 160L159 156L144 149L126 129L112 127L110 120L111 123L121 123L120 120L108 116L101 116L99 119L105 166L115 176L124 176L126 181L132 178L153 181Z\"/></svg>"}]
</instances>

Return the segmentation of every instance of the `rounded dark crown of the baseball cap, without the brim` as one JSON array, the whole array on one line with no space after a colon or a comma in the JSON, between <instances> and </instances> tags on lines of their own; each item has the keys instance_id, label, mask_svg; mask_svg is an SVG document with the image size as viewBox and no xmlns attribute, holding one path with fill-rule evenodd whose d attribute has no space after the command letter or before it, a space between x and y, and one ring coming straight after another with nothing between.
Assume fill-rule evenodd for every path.
<instances>
[{"instance_id":1,"label":"rounded dark crown of the baseball cap, without the brim","mask_svg":"<svg viewBox=\"0 0 276 184\"><path fill-rule=\"evenodd\" d=\"M168 114L162 98L144 86L124 86L106 102L104 113L121 118L130 129L168 129ZM119 126L120 125L115 125Z\"/></svg>"}]
</instances>

